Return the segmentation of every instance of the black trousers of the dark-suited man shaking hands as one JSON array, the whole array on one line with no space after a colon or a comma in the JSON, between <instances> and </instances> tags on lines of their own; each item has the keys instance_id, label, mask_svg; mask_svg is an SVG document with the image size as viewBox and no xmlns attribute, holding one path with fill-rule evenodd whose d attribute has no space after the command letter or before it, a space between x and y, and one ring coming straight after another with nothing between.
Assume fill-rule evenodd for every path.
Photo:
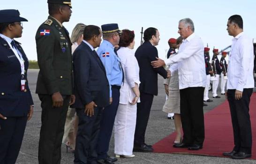
<instances>
[{"instance_id":1,"label":"black trousers of the dark-suited man shaking hands","mask_svg":"<svg viewBox=\"0 0 256 164\"><path fill-rule=\"evenodd\" d=\"M134 144L140 146L145 143L145 133L150 116L154 95L141 92L140 103L137 103L137 118L134 134Z\"/></svg>"}]
</instances>

